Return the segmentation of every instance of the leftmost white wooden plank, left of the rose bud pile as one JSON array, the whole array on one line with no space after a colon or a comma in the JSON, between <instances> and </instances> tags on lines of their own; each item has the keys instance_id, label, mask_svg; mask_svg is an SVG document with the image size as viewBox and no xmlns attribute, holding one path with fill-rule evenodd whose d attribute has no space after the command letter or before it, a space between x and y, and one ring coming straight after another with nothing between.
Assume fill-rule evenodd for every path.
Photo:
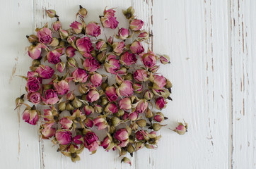
<instances>
[{"instance_id":1,"label":"leftmost white wooden plank, left of the rose bud pile","mask_svg":"<svg viewBox=\"0 0 256 169\"><path fill-rule=\"evenodd\" d=\"M22 120L24 107L14 111L15 99L25 92L26 75L32 61L26 54L33 32L33 1L1 1L1 168L40 168L37 128Z\"/></svg>"}]
</instances>

